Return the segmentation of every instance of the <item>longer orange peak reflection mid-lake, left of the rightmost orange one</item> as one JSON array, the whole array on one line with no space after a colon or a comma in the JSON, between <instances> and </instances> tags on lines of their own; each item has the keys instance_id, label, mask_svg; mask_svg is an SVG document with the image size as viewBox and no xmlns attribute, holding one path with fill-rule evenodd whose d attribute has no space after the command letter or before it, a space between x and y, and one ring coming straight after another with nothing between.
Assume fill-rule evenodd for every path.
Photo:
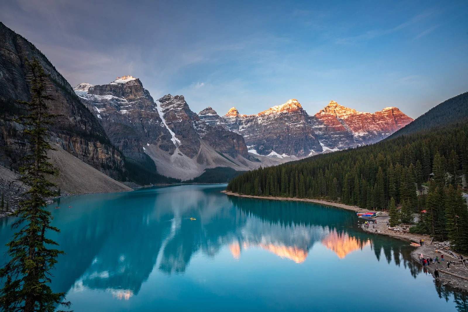
<instances>
[{"instance_id":1,"label":"longer orange peak reflection mid-lake, left of the rightmost orange one","mask_svg":"<svg viewBox=\"0 0 468 312\"><path fill-rule=\"evenodd\" d=\"M286 258L289 260L292 260L296 263L302 263L306 261L307 258L307 250L298 248L298 247L287 247L287 246L277 246L273 244L250 244L244 242L242 244L242 247L244 249L247 249L249 247L261 247L265 250L268 250L269 252L276 254L277 256L281 258ZM231 251L231 254L233 255L234 259L238 260L241 257L241 245L239 242L233 242L232 244L229 245L229 250Z\"/></svg>"}]
</instances>

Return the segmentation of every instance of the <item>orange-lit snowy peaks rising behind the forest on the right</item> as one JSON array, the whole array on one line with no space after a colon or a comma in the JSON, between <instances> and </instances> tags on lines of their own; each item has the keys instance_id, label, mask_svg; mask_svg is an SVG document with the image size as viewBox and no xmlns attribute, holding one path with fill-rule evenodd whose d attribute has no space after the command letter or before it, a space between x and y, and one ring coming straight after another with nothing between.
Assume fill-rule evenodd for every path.
<instances>
[{"instance_id":1,"label":"orange-lit snowy peaks rising behind the forest on the right","mask_svg":"<svg viewBox=\"0 0 468 312\"><path fill-rule=\"evenodd\" d=\"M209 107L199 116L207 124L241 134L249 152L276 157L304 157L374 143L412 121L397 108L370 114L333 101L309 116L295 99L256 115L241 115L232 108L219 116Z\"/></svg>"}]
</instances>

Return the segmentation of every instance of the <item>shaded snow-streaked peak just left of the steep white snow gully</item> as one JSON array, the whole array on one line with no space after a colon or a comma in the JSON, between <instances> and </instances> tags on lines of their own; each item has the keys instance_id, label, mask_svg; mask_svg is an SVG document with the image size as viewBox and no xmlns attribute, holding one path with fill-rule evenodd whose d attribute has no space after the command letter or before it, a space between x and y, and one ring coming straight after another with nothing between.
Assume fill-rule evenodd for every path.
<instances>
[{"instance_id":1,"label":"shaded snow-streaked peak just left of the steep white snow gully","mask_svg":"<svg viewBox=\"0 0 468 312\"><path fill-rule=\"evenodd\" d=\"M82 83L73 89L126 156L144 160L146 144L174 152L171 135L139 79L124 76L106 85Z\"/></svg>"}]
</instances>

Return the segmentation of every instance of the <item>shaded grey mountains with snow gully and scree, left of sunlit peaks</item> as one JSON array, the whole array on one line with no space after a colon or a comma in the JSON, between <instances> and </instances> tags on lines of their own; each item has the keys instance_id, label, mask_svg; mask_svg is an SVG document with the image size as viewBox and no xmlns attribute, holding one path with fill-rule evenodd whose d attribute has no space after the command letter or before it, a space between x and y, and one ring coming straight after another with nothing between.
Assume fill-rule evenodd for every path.
<instances>
[{"instance_id":1,"label":"shaded grey mountains with snow gully and scree, left of sunlit peaks","mask_svg":"<svg viewBox=\"0 0 468 312\"><path fill-rule=\"evenodd\" d=\"M74 91L126 157L140 164L154 162L159 174L189 180L206 168L246 171L285 161L249 155L240 134L205 123L183 95L167 94L154 102L132 76L105 85L81 83Z\"/></svg>"}]
</instances>

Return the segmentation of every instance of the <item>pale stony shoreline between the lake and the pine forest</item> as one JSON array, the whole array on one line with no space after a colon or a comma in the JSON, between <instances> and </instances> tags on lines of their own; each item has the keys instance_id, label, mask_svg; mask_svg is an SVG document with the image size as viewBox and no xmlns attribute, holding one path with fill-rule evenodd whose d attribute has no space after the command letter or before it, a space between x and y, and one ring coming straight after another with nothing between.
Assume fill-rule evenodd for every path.
<instances>
[{"instance_id":1,"label":"pale stony shoreline between the lake and the pine forest","mask_svg":"<svg viewBox=\"0 0 468 312\"><path fill-rule=\"evenodd\" d=\"M257 198L257 199L267 199L267 200L281 200L281 201L297 201L297 202L306 202L306 203L318 203L322 205L327 205L335 208L341 208L341 209L346 209L346 210L351 210L355 212L363 212L363 211L371 211L371 210L366 210L366 209L361 209L358 207L350 206L350 205L345 205L342 203L333 203L333 202L327 202L324 200L319 200L319 199L308 199L308 198L290 198L290 197L273 197L273 196L252 196L252 195L240 195L237 193L233 193L227 190L221 191L221 193L226 194L227 196L237 196L237 197L246 197L246 198ZM424 257L429 257L429 258L435 258L436 256L439 256L440 254L435 252L434 248L435 244L438 242L434 241L430 243L431 237L426 234L413 234L413 233L402 233L402 232L395 232L392 230L389 230L387 228L387 220L388 220L388 215L380 215L375 218L376 224L373 225L375 227L371 227L369 229L365 229L363 225L359 225L360 229L365 232L369 232L372 234L380 234L380 235L385 235L389 237L393 237L396 239L401 239L404 241L409 241L409 242L417 242L419 243L419 239L424 239L424 245L420 247L416 247L412 252L411 252L411 258L413 261L419 263L419 254L423 254ZM377 232L375 232L377 231ZM466 259L466 257L465 257ZM440 261L440 259L439 259ZM457 273L458 275L462 276L465 275L465 277L468 278L468 275L463 274L463 272L467 272L462 268L459 268L461 266L464 267L464 265L459 261L457 262L457 265L453 265L450 268L446 268L446 263L448 261L456 261L453 257L447 257L446 256L446 261L442 261L439 263L433 263L430 266L425 266L423 270L427 270L425 272L428 272L432 276L434 276L434 269L439 269L439 274L442 275L443 277L435 278L436 283L440 283L444 286L448 286L457 290L462 290L462 291L468 291L468 281L461 279L459 277L454 277L448 274L445 274L444 272L440 271L441 270L446 270L447 272L450 273Z\"/></svg>"}]
</instances>

